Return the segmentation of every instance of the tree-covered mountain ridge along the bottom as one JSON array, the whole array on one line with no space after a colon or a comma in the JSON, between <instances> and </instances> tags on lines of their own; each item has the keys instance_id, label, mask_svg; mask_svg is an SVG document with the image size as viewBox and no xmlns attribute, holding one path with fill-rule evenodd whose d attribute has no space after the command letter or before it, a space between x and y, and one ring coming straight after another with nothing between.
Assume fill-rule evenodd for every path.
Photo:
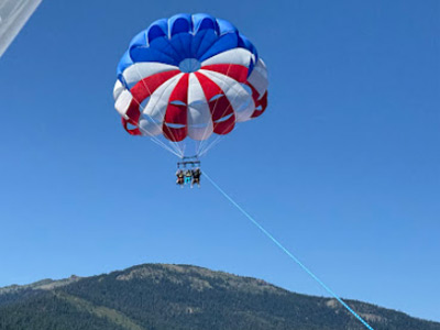
<instances>
[{"instance_id":1,"label":"tree-covered mountain ridge along the bottom","mask_svg":"<svg viewBox=\"0 0 440 330\"><path fill-rule=\"evenodd\" d=\"M440 323L345 300L375 330ZM190 265L145 264L0 288L1 330L361 330L338 301Z\"/></svg>"}]
</instances>

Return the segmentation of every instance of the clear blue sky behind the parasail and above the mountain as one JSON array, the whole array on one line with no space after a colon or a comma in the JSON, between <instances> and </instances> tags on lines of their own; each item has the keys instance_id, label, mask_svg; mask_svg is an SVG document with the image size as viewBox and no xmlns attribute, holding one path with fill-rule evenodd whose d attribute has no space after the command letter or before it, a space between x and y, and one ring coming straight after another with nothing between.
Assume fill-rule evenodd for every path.
<instances>
[{"instance_id":1,"label":"clear blue sky behind the parasail and above the mountain","mask_svg":"<svg viewBox=\"0 0 440 330\"><path fill-rule=\"evenodd\" d=\"M178 12L233 22L270 69L266 113L204 169L342 297L440 321L437 0L43 1L0 59L0 286L160 262L326 295L120 125L120 56Z\"/></svg>"}]
</instances>

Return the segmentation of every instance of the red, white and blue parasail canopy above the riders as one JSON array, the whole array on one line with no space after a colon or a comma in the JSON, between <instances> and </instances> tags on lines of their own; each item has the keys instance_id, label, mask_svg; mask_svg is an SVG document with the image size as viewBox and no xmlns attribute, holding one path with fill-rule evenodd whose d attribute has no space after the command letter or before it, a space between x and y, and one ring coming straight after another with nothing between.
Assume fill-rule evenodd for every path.
<instances>
[{"instance_id":1,"label":"red, white and blue parasail canopy above the riders","mask_svg":"<svg viewBox=\"0 0 440 330\"><path fill-rule=\"evenodd\" d=\"M180 141L224 135L267 106L267 72L235 26L177 14L139 33L118 66L114 107L133 135ZM196 151L195 153L199 153Z\"/></svg>"}]
</instances>

